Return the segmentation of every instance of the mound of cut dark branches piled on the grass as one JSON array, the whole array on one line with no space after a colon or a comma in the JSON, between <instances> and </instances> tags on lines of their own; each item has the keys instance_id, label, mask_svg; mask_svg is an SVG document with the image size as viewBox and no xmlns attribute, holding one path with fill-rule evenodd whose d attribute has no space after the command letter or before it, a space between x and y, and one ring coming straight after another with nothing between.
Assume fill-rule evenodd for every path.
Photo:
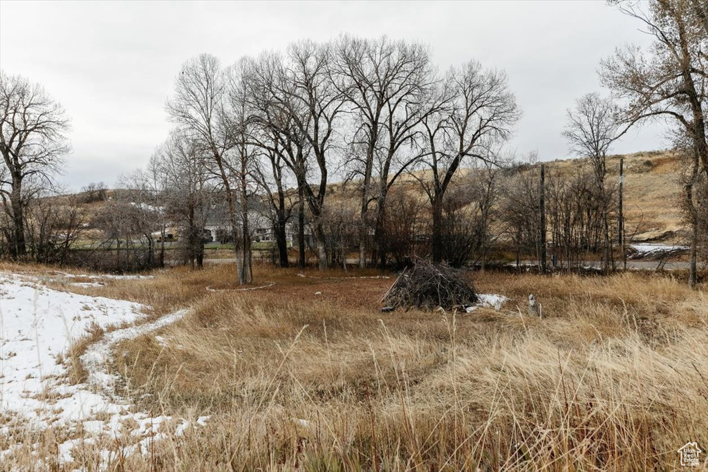
<instances>
[{"instance_id":1,"label":"mound of cut dark branches piled on the grass","mask_svg":"<svg viewBox=\"0 0 708 472\"><path fill-rule=\"evenodd\" d=\"M393 308L452 310L476 303L477 296L458 270L418 260L399 275L383 301Z\"/></svg>"}]
</instances>

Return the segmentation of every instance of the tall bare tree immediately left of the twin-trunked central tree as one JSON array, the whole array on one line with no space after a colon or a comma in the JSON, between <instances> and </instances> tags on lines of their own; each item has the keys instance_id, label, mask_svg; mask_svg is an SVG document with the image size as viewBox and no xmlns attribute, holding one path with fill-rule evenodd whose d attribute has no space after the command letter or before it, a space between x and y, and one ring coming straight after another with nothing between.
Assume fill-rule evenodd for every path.
<instances>
[{"instance_id":1,"label":"tall bare tree immediately left of the twin-trunked central tree","mask_svg":"<svg viewBox=\"0 0 708 472\"><path fill-rule=\"evenodd\" d=\"M333 146L345 99L332 80L329 44L302 41L290 45L287 58L266 55L258 63L254 94L260 105L253 120L273 130L295 174L301 205L307 203L317 244L319 267L327 267L326 234L321 217ZM300 226L303 209L300 209ZM301 245L302 247L302 245Z\"/></svg>"}]
</instances>

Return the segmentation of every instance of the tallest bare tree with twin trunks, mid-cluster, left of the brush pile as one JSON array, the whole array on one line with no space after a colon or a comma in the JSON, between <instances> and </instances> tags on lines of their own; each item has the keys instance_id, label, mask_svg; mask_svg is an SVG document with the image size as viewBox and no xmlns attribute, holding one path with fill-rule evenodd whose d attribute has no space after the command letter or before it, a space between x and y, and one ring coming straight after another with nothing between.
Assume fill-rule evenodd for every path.
<instances>
[{"instance_id":1,"label":"tallest bare tree with twin trunks, mid-cluster, left of the brush pile","mask_svg":"<svg viewBox=\"0 0 708 472\"><path fill-rule=\"evenodd\" d=\"M379 263L385 265L387 194L417 157L417 153L399 151L420 132L421 120L433 112L430 96L437 77L427 47L385 36L377 40L343 36L336 42L333 62L336 83L354 112L355 131L349 141L355 172L361 178L359 263L364 267L368 212L375 200L374 240L378 241Z\"/></svg>"}]
</instances>

